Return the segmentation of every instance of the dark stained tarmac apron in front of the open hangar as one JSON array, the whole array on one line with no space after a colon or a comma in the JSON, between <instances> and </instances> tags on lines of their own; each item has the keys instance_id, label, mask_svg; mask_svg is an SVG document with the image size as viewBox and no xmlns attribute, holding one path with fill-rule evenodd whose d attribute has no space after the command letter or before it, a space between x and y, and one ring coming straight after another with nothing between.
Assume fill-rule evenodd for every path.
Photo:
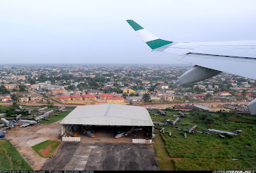
<instances>
[{"instance_id":1,"label":"dark stained tarmac apron in front of the open hangar","mask_svg":"<svg viewBox=\"0 0 256 173\"><path fill-rule=\"evenodd\" d=\"M159 171L153 145L62 142L42 170Z\"/></svg>"}]
</instances>

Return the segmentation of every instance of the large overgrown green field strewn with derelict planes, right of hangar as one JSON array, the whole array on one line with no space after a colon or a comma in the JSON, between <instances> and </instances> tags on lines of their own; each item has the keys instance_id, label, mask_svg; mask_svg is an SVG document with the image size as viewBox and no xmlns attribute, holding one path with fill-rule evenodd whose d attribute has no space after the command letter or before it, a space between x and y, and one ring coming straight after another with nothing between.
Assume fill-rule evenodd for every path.
<instances>
[{"instance_id":1,"label":"large overgrown green field strewn with derelict planes, right of hangar","mask_svg":"<svg viewBox=\"0 0 256 173\"><path fill-rule=\"evenodd\" d=\"M154 115L152 120L163 121L174 120L170 116L176 112L168 112L167 116ZM207 115L207 116L205 116ZM207 124L206 120L213 123ZM166 149L170 157L175 158L175 170L255 170L256 169L256 117L250 115L232 115L224 119L217 113L194 112L186 118L180 118L182 123L172 126L167 124L166 131L172 131L172 137L162 134L166 142ZM205 132L205 129L213 128L227 132L234 132L235 129L242 130L238 136L226 136L222 139L216 134L187 134L174 128L190 128L198 125L197 130ZM156 129L158 131L158 129ZM238 159L238 160L233 160Z\"/></svg>"}]
</instances>

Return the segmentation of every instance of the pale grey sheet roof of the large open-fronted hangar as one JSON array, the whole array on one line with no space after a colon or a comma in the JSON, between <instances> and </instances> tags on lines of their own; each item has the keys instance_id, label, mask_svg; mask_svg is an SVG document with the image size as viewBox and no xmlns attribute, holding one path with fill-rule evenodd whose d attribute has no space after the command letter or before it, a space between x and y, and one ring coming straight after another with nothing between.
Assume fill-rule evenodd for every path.
<instances>
[{"instance_id":1,"label":"pale grey sheet roof of the large open-fronted hangar","mask_svg":"<svg viewBox=\"0 0 256 173\"><path fill-rule=\"evenodd\" d=\"M122 104L78 106L60 124L154 126L146 108Z\"/></svg>"}]
</instances>

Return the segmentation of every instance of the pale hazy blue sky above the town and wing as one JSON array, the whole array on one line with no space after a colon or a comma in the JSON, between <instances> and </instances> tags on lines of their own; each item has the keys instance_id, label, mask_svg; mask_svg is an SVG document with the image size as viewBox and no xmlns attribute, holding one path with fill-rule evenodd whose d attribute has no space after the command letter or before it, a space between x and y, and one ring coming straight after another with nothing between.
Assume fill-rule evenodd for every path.
<instances>
[{"instance_id":1,"label":"pale hazy blue sky above the town and wing","mask_svg":"<svg viewBox=\"0 0 256 173\"><path fill-rule=\"evenodd\" d=\"M168 41L256 40L255 0L0 0L0 64L177 64Z\"/></svg>"}]
</instances>

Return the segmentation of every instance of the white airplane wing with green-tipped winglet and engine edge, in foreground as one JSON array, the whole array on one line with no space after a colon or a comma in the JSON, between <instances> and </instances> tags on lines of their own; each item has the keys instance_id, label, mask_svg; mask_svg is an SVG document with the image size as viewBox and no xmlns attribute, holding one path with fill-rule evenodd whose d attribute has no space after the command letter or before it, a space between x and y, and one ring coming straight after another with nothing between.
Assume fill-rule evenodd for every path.
<instances>
[{"instance_id":1,"label":"white airplane wing with green-tipped winglet and engine edge, in foreground","mask_svg":"<svg viewBox=\"0 0 256 173\"><path fill-rule=\"evenodd\" d=\"M233 73L256 80L256 41L178 42L162 40L133 20L126 20L152 51L182 56L179 61L191 63L193 68L178 77L181 84L190 84L214 77L219 73ZM256 115L256 99L248 104Z\"/></svg>"}]
</instances>

